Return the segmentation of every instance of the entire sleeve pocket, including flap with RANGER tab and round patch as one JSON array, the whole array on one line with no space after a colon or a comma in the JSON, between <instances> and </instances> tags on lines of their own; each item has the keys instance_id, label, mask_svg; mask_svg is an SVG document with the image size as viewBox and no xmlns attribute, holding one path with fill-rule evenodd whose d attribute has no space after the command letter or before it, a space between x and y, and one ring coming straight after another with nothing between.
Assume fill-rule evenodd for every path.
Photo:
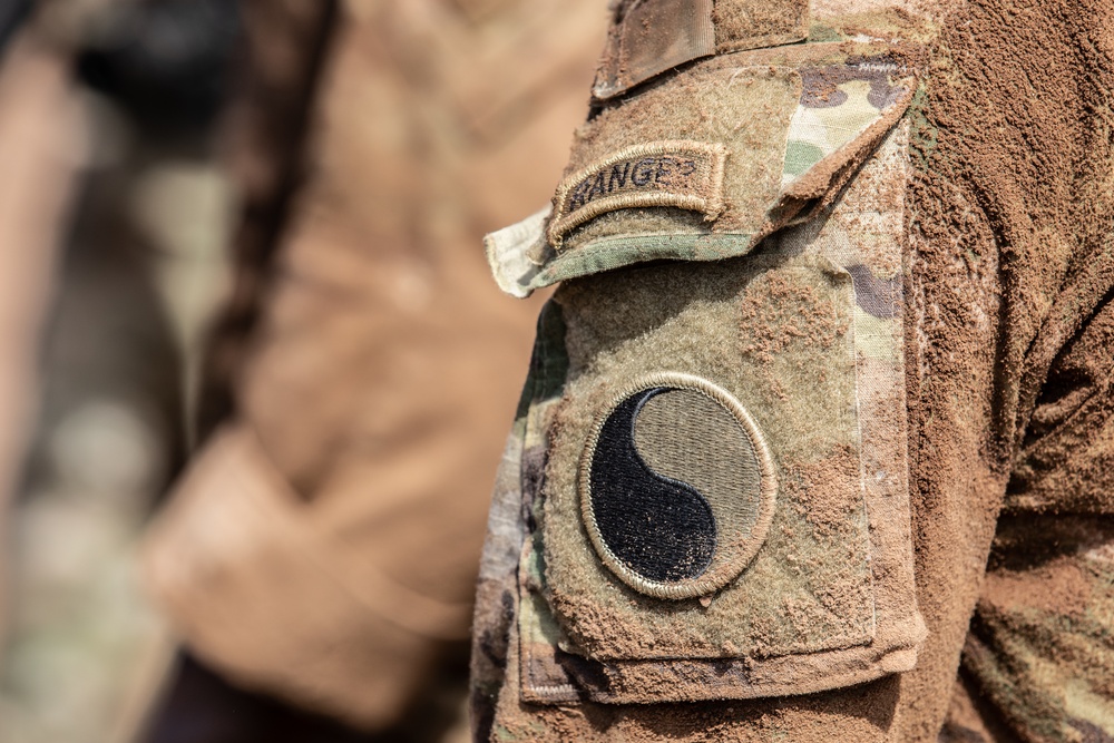
<instances>
[{"instance_id":1,"label":"entire sleeve pocket, including flap with RANGER tab and round patch","mask_svg":"<svg viewBox=\"0 0 1114 743\"><path fill-rule=\"evenodd\" d=\"M908 90L843 66L820 100L811 68L749 69L707 71L758 102L721 86L656 137L637 108L589 130L553 212L489 238L505 286L564 281L524 493L524 701L802 694L916 663ZM768 116L741 144L747 106Z\"/></svg>"}]
</instances>

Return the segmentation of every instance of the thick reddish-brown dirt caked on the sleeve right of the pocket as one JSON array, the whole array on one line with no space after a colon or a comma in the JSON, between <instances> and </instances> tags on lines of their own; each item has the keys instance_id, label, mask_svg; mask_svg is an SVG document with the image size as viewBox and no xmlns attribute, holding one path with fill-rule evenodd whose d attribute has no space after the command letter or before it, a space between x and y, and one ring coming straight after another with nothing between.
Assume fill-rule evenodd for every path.
<instances>
[{"instance_id":1,"label":"thick reddish-brown dirt caked on the sleeve right of the pocket","mask_svg":"<svg viewBox=\"0 0 1114 743\"><path fill-rule=\"evenodd\" d=\"M930 635L902 678L906 741L944 721L1018 431L1094 306L1088 276L1110 272L1114 216L1114 3L949 9L912 116L910 463Z\"/></svg>"}]
</instances>

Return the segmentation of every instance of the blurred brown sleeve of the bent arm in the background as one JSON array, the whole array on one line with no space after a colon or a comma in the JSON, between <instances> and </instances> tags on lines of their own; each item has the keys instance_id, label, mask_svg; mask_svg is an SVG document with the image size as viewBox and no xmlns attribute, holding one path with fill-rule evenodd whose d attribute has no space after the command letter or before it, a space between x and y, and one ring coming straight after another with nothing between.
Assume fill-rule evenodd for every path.
<instances>
[{"instance_id":1,"label":"blurred brown sleeve of the bent arm in the background","mask_svg":"<svg viewBox=\"0 0 1114 743\"><path fill-rule=\"evenodd\" d=\"M490 285L481 236L547 197L606 16L245 11L245 265L213 371L234 413L152 529L149 585L232 681L375 730L469 633L536 311Z\"/></svg>"}]
</instances>

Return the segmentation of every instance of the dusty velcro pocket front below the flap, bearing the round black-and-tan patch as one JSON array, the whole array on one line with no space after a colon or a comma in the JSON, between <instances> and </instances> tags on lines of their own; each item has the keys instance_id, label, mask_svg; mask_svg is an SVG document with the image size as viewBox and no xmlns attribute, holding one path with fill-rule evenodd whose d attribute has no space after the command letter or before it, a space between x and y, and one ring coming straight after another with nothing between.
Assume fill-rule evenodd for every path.
<instances>
[{"instance_id":1,"label":"dusty velcro pocket front below the flap, bearing the round black-and-tan patch","mask_svg":"<svg viewBox=\"0 0 1114 743\"><path fill-rule=\"evenodd\" d=\"M524 476L524 700L803 694L912 667L907 129L761 251L706 234L734 257L558 290L546 363L565 381L544 476Z\"/></svg>"}]
</instances>

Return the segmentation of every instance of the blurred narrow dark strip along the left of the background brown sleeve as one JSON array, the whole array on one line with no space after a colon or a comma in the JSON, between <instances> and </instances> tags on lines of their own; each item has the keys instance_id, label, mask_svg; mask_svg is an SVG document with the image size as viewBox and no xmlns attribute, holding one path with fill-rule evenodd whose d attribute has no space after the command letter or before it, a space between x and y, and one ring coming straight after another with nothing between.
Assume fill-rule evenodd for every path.
<instances>
[{"instance_id":1,"label":"blurred narrow dark strip along the left of the background brown sleeve","mask_svg":"<svg viewBox=\"0 0 1114 743\"><path fill-rule=\"evenodd\" d=\"M226 131L242 213L231 248L234 285L203 361L195 409L201 440L236 412L233 387L304 180L305 140L340 9L338 0L244 0L242 13L242 75Z\"/></svg>"}]
</instances>

